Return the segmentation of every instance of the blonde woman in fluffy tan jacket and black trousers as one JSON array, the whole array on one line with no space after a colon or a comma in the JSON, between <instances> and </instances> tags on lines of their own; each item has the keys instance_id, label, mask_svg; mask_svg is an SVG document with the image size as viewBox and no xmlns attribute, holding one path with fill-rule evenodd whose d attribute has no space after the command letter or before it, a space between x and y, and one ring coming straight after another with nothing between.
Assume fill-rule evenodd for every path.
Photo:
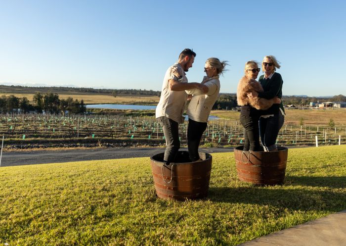
<instances>
[{"instance_id":1,"label":"blonde woman in fluffy tan jacket and black trousers","mask_svg":"<svg viewBox=\"0 0 346 246\"><path fill-rule=\"evenodd\" d=\"M256 81L259 75L259 65L256 61L251 60L245 63L245 75L239 81L237 88L237 102L241 106L240 123L244 131L244 148L245 151L259 151L259 110L268 109L274 103L280 103L280 98L264 99L258 97L249 98L251 93L263 92L263 88Z\"/></svg>"}]
</instances>

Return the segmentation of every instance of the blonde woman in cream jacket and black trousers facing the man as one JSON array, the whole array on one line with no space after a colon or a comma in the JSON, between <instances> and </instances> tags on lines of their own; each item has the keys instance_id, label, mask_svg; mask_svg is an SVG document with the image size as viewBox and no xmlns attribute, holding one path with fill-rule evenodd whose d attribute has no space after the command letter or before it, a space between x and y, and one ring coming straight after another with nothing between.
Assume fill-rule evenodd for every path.
<instances>
[{"instance_id":1,"label":"blonde woman in cream jacket and black trousers facing the man","mask_svg":"<svg viewBox=\"0 0 346 246\"><path fill-rule=\"evenodd\" d=\"M208 91L206 93L199 89L185 91L187 94L193 95L187 108L187 115L189 116L187 145L191 161L200 159L199 143L207 128L210 111L220 91L219 75L225 71L226 65L228 65L227 61L220 61L215 57L207 59L204 66L207 76L204 76L202 84L208 88Z\"/></svg>"}]
</instances>

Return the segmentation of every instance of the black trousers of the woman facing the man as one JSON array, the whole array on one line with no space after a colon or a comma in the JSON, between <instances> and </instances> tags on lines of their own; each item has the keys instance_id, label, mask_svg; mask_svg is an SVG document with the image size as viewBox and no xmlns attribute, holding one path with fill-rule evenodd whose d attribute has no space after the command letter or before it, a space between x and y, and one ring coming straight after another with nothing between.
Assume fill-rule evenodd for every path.
<instances>
[{"instance_id":1,"label":"black trousers of the woman facing the man","mask_svg":"<svg viewBox=\"0 0 346 246\"><path fill-rule=\"evenodd\" d=\"M187 148L191 161L199 160L198 147L201 142L202 135L207 129L207 122L197 122L189 119L187 127Z\"/></svg>"}]
</instances>

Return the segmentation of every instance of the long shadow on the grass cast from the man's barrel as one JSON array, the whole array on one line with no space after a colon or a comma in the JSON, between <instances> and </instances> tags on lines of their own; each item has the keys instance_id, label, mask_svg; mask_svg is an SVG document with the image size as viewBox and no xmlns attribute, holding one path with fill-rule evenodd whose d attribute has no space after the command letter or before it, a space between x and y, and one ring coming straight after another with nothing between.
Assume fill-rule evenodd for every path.
<instances>
[{"instance_id":1,"label":"long shadow on the grass cast from the man's barrel","mask_svg":"<svg viewBox=\"0 0 346 246\"><path fill-rule=\"evenodd\" d=\"M325 177L327 178L327 177ZM314 182L310 179L300 180L304 185ZM306 183L307 184L306 184ZM340 180L341 182L341 180ZM324 185L325 187L326 185ZM252 187L210 187L208 198L215 202L245 203L256 205L271 205L302 211L341 211L346 208L346 192L340 190L316 190L315 188L294 187L284 189L278 186L276 189L268 189L263 186ZM279 188L279 189L277 189ZM336 187L336 188L339 188Z\"/></svg>"}]
</instances>

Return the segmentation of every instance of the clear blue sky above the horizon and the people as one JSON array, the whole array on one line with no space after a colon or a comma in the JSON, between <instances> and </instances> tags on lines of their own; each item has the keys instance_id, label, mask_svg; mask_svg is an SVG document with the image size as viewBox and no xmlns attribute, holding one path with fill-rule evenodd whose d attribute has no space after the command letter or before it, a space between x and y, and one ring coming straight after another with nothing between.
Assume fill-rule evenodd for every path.
<instances>
[{"instance_id":1,"label":"clear blue sky above the horizon and the people","mask_svg":"<svg viewBox=\"0 0 346 246\"><path fill-rule=\"evenodd\" d=\"M346 95L345 1L0 0L0 84L159 91L184 48L200 82L228 60L235 93L246 61L275 55L284 95ZM260 74L262 74L260 72Z\"/></svg>"}]
</instances>

